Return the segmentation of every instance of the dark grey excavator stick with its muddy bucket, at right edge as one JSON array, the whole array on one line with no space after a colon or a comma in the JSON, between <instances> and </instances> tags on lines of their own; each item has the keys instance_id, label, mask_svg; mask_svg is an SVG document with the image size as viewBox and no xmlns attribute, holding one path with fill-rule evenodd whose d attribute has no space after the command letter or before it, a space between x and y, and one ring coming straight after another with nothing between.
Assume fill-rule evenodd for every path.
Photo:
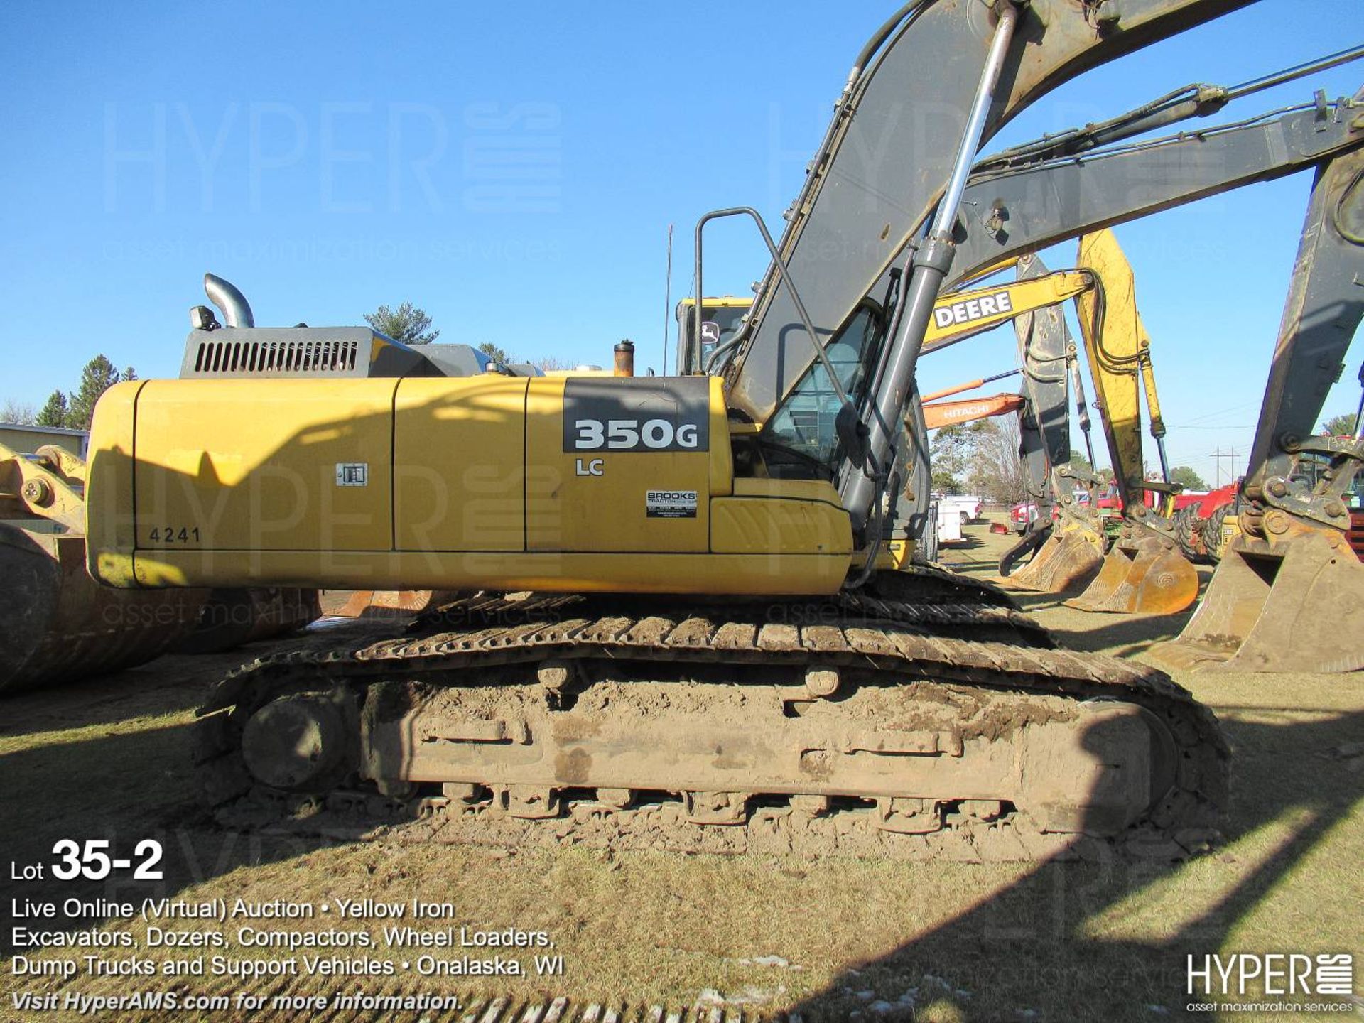
<instances>
[{"instance_id":1,"label":"dark grey excavator stick with its muddy bucket, at right edge","mask_svg":"<svg viewBox=\"0 0 1364 1023\"><path fill-rule=\"evenodd\" d=\"M1312 184L1245 480L1241 535L1222 554L1198 612L1153 655L1174 667L1233 671L1364 668L1364 563L1350 550L1346 495L1364 441L1314 438L1364 316L1364 150ZM1303 453L1326 456L1307 486Z\"/></svg>"}]
</instances>

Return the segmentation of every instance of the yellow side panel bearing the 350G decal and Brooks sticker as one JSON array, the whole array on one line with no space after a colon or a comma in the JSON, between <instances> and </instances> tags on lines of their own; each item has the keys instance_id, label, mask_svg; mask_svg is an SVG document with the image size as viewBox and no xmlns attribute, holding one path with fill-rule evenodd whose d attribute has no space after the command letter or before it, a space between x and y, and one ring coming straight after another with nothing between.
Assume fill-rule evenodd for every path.
<instances>
[{"instance_id":1,"label":"yellow side panel bearing the 350G decal and Brooks sticker","mask_svg":"<svg viewBox=\"0 0 1364 1023\"><path fill-rule=\"evenodd\" d=\"M730 443L727 431L715 430L713 400L700 413L711 423L711 450L612 450L610 445L614 438L633 443L630 438L652 421L653 412L640 405L651 389L704 386L705 401L717 383L698 378L532 378L527 394L527 550L705 551L712 451L722 445L728 458ZM593 396L582 406L581 421L596 424L596 446L572 446L580 419L565 421L566 387ZM651 506L651 491L678 495L682 514L660 514L660 499Z\"/></svg>"}]
</instances>

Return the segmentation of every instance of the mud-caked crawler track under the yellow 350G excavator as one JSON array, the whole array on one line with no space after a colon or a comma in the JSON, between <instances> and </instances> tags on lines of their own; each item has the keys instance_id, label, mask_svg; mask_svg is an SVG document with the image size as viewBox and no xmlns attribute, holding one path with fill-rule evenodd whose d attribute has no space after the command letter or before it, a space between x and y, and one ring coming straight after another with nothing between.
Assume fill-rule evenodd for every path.
<instances>
[{"instance_id":1,"label":"mud-caked crawler track under the yellow 350G excavator","mask_svg":"<svg viewBox=\"0 0 1364 1023\"><path fill-rule=\"evenodd\" d=\"M1215 839L1228 750L1185 690L1049 649L993 587L893 576L657 608L476 595L443 610L454 627L262 657L201 711L202 790L228 827L404 842L1013 861ZM1056 790L1090 769L1076 749L1127 749L1133 728L1153 737L1132 772L1154 779L1148 805L1106 801L1131 777L1102 769L1087 801ZM1050 798L982 791L1015 771Z\"/></svg>"}]
</instances>

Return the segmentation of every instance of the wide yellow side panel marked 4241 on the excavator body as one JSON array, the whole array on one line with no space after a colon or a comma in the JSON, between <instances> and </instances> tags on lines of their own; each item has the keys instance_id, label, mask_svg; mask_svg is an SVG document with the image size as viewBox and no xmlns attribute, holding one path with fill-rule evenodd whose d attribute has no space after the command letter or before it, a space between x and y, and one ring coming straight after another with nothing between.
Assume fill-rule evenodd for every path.
<instances>
[{"instance_id":1,"label":"wide yellow side panel marked 4241 on the excavator body","mask_svg":"<svg viewBox=\"0 0 1364 1023\"><path fill-rule=\"evenodd\" d=\"M397 383L149 381L138 547L389 550Z\"/></svg>"}]
</instances>

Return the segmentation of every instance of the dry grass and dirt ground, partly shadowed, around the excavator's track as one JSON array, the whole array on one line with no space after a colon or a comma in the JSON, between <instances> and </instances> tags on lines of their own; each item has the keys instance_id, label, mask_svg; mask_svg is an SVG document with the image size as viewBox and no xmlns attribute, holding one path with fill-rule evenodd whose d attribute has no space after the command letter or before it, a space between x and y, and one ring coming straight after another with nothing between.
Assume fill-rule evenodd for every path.
<instances>
[{"instance_id":1,"label":"dry grass and dirt ground, partly shadowed, around the excavator's track","mask_svg":"<svg viewBox=\"0 0 1364 1023\"><path fill-rule=\"evenodd\" d=\"M990 574L1008 542L985 525L973 525L962 547L944 550L944 561ZM1203 570L1204 582L1207 576ZM1064 645L1121 657L1143 657L1153 642L1174 636L1187 619L1087 614L1063 607L1057 597L1024 596L1020 603ZM342 634L333 632L329 638ZM291 642L310 641L316 638ZM1346 952L1359 960L1364 953L1359 874L1364 859L1364 677L1359 674L1177 677L1214 708L1233 747L1230 828L1211 854L1142 865L887 863L576 847L432 847L396 835L353 842L222 831L195 802L188 726L217 678L261 652L168 656L50 694L0 702L0 835L5 844L0 904L15 918L0 934L11 963L0 975L0 1019L63 1016L16 1009L15 992L108 994L140 985L225 993L446 992L465 1000L457 1013L389 1016L412 1020L522 1018L484 1013L481 1007L494 996L503 996L507 1011L517 1013L524 1005L566 996L574 1005L659 1004L678 1012L700 1004L705 1009L697 1019L797 1011L807 1020L1151 1020L1180 1015L1282 1020L1294 1013L1187 1012L1192 1000L1185 993L1187 956L1202 962L1209 953ZM10 861L50 862L53 843L67 837L110 839L120 855L128 855L138 840L155 837L165 848L165 880L82 885L11 877ZM75 896L140 903L161 895L196 903L217 898L229 903L236 898L315 904L355 898L449 902L454 918L423 926L453 926L456 933L460 928L546 932L552 953L563 956L563 973L296 981L157 977L145 982L16 975L15 956L41 962L55 955L26 955L15 947L12 925L29 900ZM142 919L109 919L101 906L90 908L87 919L61 925L130 932L145 943L149 925ZM334 918L252 922L312 930L340 925ZM348 926L378 934L382 923L368 919ZM490 955L490 949L464 953ZM160 962L183 951L140 955ZM445 955L461 952L446 949ZM521 959L529 963L529 955ZM1248 990L1258 988L1252 983ZM712 1008L720 1012L712 1016ZM236 1009L203 1018L248 1015L269 1018ZM1356 997L1348 1013L1322 1018L1342 1015L1364 1015L1364 1000Z\"/></svg>"}]
</instances>

